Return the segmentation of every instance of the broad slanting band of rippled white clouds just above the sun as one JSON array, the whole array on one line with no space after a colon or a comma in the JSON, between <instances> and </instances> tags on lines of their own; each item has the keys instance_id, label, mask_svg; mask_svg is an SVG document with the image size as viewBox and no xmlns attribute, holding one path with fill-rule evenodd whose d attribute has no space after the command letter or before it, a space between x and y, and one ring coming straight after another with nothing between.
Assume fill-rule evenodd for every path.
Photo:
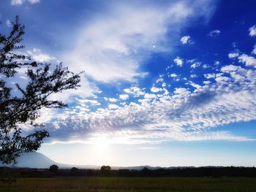
<instances>
[{"instance_id":1,"label":"broad slanting band of rippled white clouds just above the sun","mask_svg":"<svg viewBox=\"0 0 256 192\"><path fill-rule=\"evenodd\" d=\"M48 124L52 127L51 139L88 143L94 137L105 135L113 138L111 142L126 144L252 140L221 131L219 127L255 120L255 69L229 65L223 66L221 71L225 74L211 74L215 82L206 81L205 85L189 82L195 88L193 91L175 88L165 96L145 93L139 103L132 102L124 107L109 105L97 112L59 120L57 125Z\"/></svg>"}]
</instances>

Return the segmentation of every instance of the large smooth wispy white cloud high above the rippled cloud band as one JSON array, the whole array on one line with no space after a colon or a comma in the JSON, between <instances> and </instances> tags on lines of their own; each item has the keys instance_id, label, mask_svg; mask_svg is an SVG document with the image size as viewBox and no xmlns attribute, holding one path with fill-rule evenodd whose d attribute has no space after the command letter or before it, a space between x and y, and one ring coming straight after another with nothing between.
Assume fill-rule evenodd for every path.
<instances>
[{"instance_id":1,"label":"large smooth wispy white cloud high above the rippled cloud band","mask_svg":"<svg viewBox=\"0 0 256 192\"><path fill-rule=\"evenodd\" d=\"M148 54L172 50L174 39L167 38L168 33L178 34L191 18L208 18L212 9L211 1L156 4L143 4L141 9L140 1L120 1L108 12L89 18L91 22L77 28L74 37L68 34L74 49L64 53L64 62L97 81L136 81L146 75L140 65Z\"/></svg>"}]
</instances>

